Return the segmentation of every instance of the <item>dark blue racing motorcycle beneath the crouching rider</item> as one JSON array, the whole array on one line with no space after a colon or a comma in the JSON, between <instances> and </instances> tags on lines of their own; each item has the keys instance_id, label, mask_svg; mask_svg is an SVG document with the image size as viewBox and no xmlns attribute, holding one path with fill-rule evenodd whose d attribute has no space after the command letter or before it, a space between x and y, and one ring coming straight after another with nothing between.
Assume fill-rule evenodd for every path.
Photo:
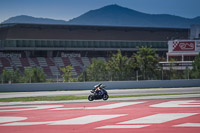
<instances>
[{"instance_id":1,"label":"dark blue racing motorcycle beneath the crouching rider","mask_svg":"<svg viewBox=\"0 0 200 133\"><path fill-rule=\"evenodd\" d=\"M103 99L105 101L108 98L109 98L108 92L104 88L101 88L101 91L99 91L99 92L96 92L93 89L91 91L91 94L88 96L89 101L100 100L100 99Z\"/></svg>"}]
</instances>

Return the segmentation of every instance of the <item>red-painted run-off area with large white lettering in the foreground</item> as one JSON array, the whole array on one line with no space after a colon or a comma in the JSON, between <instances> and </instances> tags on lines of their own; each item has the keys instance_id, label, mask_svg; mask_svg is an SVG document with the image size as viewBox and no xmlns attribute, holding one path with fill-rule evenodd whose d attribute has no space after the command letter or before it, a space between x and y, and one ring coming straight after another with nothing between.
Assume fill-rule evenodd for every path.
<instances>
[{"instance_id":1,"label":"red-painted run-off area with large white lettering in the foreground","mask_svg":"<svg viewBox=\"0 0 200 133\"><path fill-rule=\"evenodd\" d=\"M1 133L199 133L200 98L0 106Z\"/></svg>"}]
</instances>

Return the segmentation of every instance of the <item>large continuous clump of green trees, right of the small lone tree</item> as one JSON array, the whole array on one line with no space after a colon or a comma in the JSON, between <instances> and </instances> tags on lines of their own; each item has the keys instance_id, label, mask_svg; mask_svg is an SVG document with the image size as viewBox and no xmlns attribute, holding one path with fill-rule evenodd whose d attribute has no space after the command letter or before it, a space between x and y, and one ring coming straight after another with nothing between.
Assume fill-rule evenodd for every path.
<instances>
[{"instance_id":1,"label":"large continuous clump of green trees, right of the small lone tree","mask_svg":"<svg viewBox=\"0 0 200 133\"><path fill-rule=\"evenodd\" d=\"M139 50L131 57L122 55L118 50L109 61L92 59L92 63L74 81L123 81L123 80L173 80L173 79L199 79L200 54L193 62L193 69L186 67L179 71L169 66L163 70L159 64L161 60L154 49L148 47ZM173 60L172 60L173 62ZM69 81L69 80L68 80Z\"/></svg>"}]
</instances>

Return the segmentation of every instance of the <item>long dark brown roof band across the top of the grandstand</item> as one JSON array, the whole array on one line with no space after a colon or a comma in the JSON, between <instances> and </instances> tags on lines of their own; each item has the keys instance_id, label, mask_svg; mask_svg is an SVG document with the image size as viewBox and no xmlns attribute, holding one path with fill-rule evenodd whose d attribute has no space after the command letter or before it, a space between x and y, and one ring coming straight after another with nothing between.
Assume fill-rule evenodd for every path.
<instances>
[{"instance_id":1,"label":"long dark brown roof band across the top of the grandstand","mask_svg":"<svg viewBox=\"0 0 200 133\"><path fill-rule=\"evenodd\" d=\"M1 24L0 40L130 40L188 39L189 29L49 24Z\"/></svg>"}]
</instances>

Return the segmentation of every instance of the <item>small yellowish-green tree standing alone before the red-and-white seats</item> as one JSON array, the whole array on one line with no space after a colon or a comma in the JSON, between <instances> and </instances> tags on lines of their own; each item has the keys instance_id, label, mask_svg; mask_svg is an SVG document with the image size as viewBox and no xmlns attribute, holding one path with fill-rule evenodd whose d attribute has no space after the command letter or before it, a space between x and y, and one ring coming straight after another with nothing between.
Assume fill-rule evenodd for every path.
<instances>
[{"instance_id":1,"label":"small yellowish-green tree standing alone before the red-and-white seats","mask_svg":"<svg viewBox=\"0 0 200 133\"><path fill-rule=\"evenodd\" d=\"M66 67L60 68L60 70L63 72L62 77L64 82L70 82L72 80L72 66L68 65Z\"/></svg>"}]
</instances>

